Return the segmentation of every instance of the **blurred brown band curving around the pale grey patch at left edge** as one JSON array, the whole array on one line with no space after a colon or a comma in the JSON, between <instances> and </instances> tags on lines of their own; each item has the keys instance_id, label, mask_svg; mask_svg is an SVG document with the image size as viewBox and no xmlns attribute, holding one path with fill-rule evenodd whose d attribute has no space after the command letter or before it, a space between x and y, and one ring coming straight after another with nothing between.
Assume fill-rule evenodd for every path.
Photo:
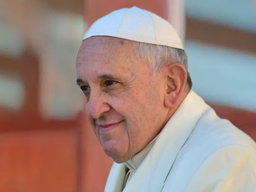
<instances>
[{"instance_id":1,"label":"blurred brown band curving around the pale grey patch at left edge","mask_svg":"<svg viewBox=\"0 0 256 192\"><path fill-rule=\"evenodd\" d=\"M18 77L20 84L23 84L25 97L22 108L10 110L0 106L0 120L5 118L37 118L39 111L39 63L38 58L32 51L27 50L19 58L12 58L0 54L0 71L6 76ZM2 90L4 91L4 90ZM0 128L1 129L1 128Z\"/></svg>"}]
</instances>

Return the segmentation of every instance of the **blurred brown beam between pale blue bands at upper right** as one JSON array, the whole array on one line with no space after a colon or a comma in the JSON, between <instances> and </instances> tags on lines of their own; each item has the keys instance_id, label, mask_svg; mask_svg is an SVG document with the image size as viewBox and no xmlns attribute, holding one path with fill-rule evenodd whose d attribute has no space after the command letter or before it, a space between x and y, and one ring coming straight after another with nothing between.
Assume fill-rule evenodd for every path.
<instances>
[{"instance_id":1,"label":"blurred brown beam between pale blue bands at upper right","mask_svg":"<svg viewBox=\"0 0 256 192\"><path fill-rule=\"evenodd\" d=\"M186 40L256 54L256 33L187 17Z\"/></svg>"}]
</instances>

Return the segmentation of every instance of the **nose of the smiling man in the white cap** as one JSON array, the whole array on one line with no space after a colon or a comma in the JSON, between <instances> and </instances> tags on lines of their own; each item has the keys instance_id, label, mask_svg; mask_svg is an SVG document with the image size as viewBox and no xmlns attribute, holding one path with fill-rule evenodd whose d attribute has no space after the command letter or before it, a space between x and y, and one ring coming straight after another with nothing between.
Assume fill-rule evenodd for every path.
<instances>
[{"instance_id":1,"label":"nose of the smiling man in the white cap","mask_svg":"<svg viewBox=\"0 0 256 192\"><path fill-rule=\"evenodd\" d=\"M86 115L90 118L99 118L105 112L109 111L109 106L105 93L90 94L90 99L86 103Z\"/></svg>"}]
</instances>

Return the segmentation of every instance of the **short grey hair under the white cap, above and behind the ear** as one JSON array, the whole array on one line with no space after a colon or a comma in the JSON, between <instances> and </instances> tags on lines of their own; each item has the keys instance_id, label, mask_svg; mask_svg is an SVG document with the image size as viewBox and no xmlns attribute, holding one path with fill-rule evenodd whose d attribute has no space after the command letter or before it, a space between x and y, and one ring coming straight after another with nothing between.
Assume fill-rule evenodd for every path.
<instances>
[{"instance_id":1,"label":"short grey hair under the white cap, above and behind the ear","mask_svg":"<svg viewBox=\"0 0 256 192\"><path fill-rule=\"evenodd\" d=\"M167 63L180 63L183 65L188 74L187 84L189 90L191 90L192 81L188 72L188 56L184 50L164 45L145 44L142 42L132 43L138 59L148 61L152 67L153 74L160 74Z\"/></svg>"}]
</instances>

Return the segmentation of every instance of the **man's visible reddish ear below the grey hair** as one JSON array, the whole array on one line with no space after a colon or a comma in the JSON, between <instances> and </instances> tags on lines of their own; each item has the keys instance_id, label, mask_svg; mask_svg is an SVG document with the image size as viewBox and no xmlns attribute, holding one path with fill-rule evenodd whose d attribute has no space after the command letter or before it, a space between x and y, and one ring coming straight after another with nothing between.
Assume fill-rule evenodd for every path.
<instances>
[{"instance_id":1,"label":"man's visible reddish ear below the grey hair","mask_svg":"<svg viewBox=\"0 0 256 192\"><path fill-rule=\"evenodd\" d=\"M167 108L177 106L185 91L187 72L181 64L166 65L166 90L164 92L164 105Z\"/></svg>"}]
</instances>

